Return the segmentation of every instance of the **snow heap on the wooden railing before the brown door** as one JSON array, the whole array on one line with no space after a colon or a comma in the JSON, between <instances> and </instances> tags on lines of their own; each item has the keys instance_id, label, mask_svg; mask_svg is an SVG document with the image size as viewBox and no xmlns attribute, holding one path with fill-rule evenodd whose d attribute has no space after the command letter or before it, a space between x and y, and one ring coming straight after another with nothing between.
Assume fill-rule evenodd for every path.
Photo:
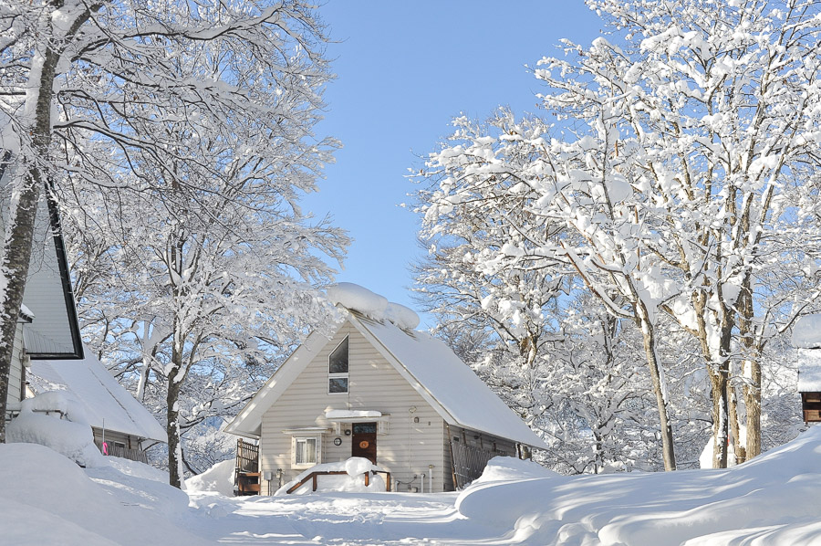
<instances>
[{"instance_id":1,"label":"snow heap on the wooden railing before the brown door","mask_svg":"<svg viewBox=\"0 0 821 546\"><path fill-rule=\"evenodd\" d=\"M385 491L385 480L379 475L370 475L369 485L365 485L366 472L384 472L382 468L373 465L367 458L350 457L347 461L339 463L323 463L315 467L308 468L299 474L293 481L276 489L275 496L287 495L287 490L296 486L297 483L310 476L312 472L345 472L345 474L320 475L317 476L317 493L327 493L329 491L343 491L348 493L380 493ZM313 492L313 480L309 479L291 495L305 495Z\"/></svg>"}]
</instances>

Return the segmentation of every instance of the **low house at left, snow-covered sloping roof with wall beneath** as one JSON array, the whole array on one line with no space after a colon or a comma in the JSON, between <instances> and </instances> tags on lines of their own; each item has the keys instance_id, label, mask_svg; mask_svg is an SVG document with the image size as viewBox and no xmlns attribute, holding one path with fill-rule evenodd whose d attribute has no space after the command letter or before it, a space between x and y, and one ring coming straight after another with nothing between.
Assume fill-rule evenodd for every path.
<instances>
[{"instance_id":1,"label":"low house at left, snow-covered sloping roof with wall beneath","mask_svg":"<svg viewBox=\"0 0 821 546\"><path fill-rule=\"evenodd\" d=\"M66 391L85 414L95 444L108 455L144 460L147 447L168 441L151 412L89 352L81 361L31 362L28 388L30 394Z\"/></svg>"}]
</instances>

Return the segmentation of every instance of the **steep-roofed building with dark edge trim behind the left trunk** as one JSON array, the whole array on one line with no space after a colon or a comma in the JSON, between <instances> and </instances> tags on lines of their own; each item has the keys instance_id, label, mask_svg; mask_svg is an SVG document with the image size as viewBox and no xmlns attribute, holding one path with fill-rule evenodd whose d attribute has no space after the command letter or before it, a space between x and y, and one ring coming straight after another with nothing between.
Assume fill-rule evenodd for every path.
<instances>
[{"instance_id":1,"label":"steep-roofed building with dark edge trim behind the left trunk","mask_svg":"<svg viewBox=\"0 0 821 546\"><path fill-rule=\"evenodd\" d=\"M0 217L0 223L5 228L4 217ZM19 411L25 397L30 361L81 358L83 347L57 205L41 200L23 307L17 320L6 399L8 414Z\"/></svg>"}]
</instances>

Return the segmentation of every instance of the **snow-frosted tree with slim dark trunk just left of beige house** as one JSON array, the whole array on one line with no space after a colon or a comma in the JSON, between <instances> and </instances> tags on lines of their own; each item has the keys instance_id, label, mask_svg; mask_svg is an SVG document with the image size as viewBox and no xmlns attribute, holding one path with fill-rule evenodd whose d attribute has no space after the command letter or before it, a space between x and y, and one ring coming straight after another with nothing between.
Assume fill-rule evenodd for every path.
<instances>
[{"instance_id":1,"label":"snow-frosted tree with slim dark trunk just left of beige house","mask_svg":"<svg viewBox=\"0 0 821 546\"><path fill-rule=\"evenodd\" d=\"M203 164L222 155L212 141L184 142L208 146ZM226 158L225 165L211 166L224 173L211 182L187 184L190 176L209 173L182 168L163 181L158 169L156 180L171 191L83 193L84 203L96 193L100 203L118 198L121 205L104 230L120 271L113 284L97 285L114 305L102 304L99 294L95 300L113 323L109 334L140 349L133 353L138 397L151 373L164 383L173 485L182 478L182 433L238 411L259 378L272 372L262 364L326 320L315 286L327 283L332 269L322 255L340 259L347 243L327 221L311 224L299 212L298 190L312 187L299 184L311 177L275 169L252 151ZM92 292L84 290L84 298ZM249 377L251 368L262 369Z\"/></svg>"}]
</instances>

